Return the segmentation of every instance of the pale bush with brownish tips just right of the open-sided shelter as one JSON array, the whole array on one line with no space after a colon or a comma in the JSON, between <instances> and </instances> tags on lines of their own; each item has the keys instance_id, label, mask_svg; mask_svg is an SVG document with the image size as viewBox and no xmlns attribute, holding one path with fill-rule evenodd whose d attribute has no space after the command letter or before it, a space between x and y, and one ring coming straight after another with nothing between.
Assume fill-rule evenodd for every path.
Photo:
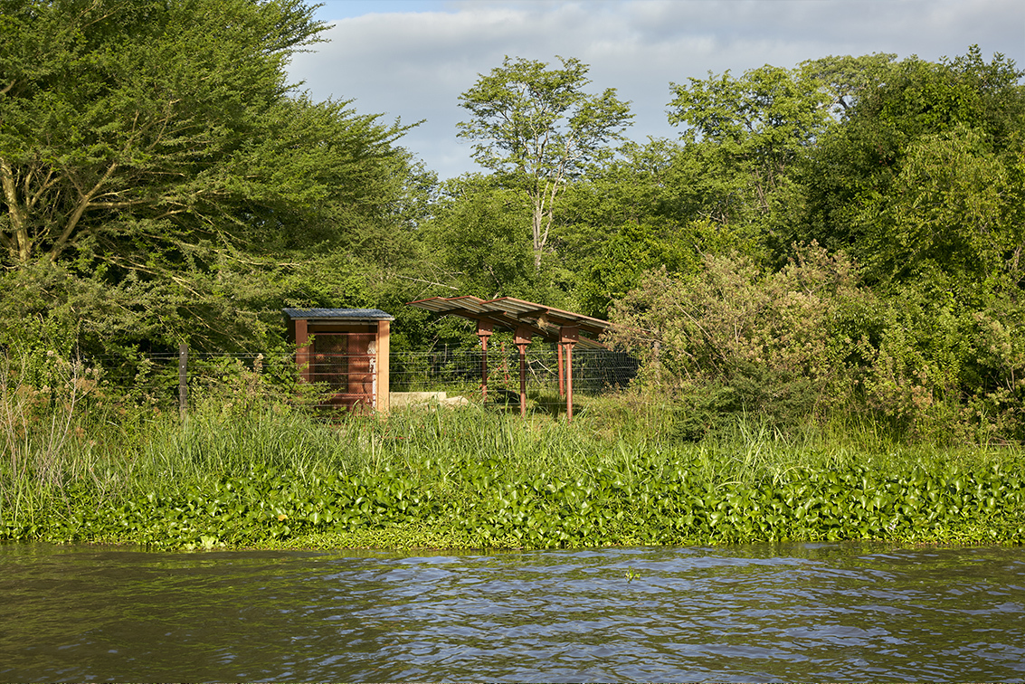
<instances>
[{"instance_id":1,"label":"pale bush with brownish tips just right of the open-sided shelter","mask_svg":"<svg viewBox=\"0 0 1025 684\"><path fill-rule=\"evenodd\" d=\"M656 383L709 388L722 409L793 424L849 398L850 328L871 306L854 265L818 245L798 249L778 273L742 256L708 256L701 272L655 272L617 303L622 327L611 340L644 355Z\"/></svg>"}]
</instances>

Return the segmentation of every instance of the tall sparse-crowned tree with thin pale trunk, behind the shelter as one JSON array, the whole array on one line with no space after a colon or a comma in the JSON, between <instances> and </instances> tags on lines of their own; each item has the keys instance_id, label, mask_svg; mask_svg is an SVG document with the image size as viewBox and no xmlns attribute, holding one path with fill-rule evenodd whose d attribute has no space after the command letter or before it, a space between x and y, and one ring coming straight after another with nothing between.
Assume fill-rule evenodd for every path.
<instances>
[{"instance_id":1,"label":"tall sparse-crowned tree with thin pale trunk, behind the shelter","mask_svg":"<svg viewBox=\"0 0 1025 684\"><path fill-rule=\"evenodd\" d=\"M530 197L534 267L548 245L559 194L579 177L632 116L614 88L588 94L588 67L559 57L562 69L534 59L505 57L459 96L473 114L459 137L475 140L474 159L509 188Z\"/></svg>"}]
</instances>

